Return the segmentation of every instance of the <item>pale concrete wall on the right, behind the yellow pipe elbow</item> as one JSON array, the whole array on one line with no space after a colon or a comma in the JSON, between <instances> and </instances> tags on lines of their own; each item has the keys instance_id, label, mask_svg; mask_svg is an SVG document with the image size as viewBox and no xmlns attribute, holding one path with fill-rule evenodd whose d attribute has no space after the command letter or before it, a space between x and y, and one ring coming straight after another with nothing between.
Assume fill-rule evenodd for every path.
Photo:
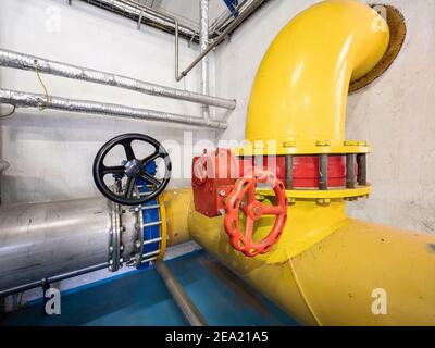
<instances>
[{"instance_id":1,"label":"pale concrete wall on the right, behind the yellow pipe elbow","mask_svg":"<svg viewBox=\"0 0 435 348\"><path fill-rule=\"evenodd\" d=\"M235 97L237 110L223 138L245 137L245 116L262 55L279 29L318 1L272 0L216 51L216 88ZM435 2L388 0L405 15L408 36L393 66L349 97L347 137L369 140L369 200L349 203L350 215L435 233ZM327 26L325 26L327 30Z\"/></svg>"}]
</instances>

